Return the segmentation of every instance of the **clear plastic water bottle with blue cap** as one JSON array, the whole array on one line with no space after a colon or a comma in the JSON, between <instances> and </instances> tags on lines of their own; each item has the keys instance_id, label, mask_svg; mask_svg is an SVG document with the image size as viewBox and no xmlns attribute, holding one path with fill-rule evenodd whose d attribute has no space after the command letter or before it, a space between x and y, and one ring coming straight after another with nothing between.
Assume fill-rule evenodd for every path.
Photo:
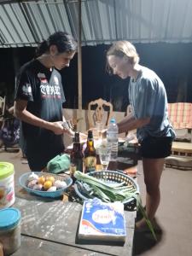
<instances>
[{"instance_id":1,"label":"clear plastic water bottle with blue cap","mask_svg":"<svg viewBox=\"0 0 192 256\"><path fill-rule=\"evenodd\" d=\"M107 131L108 145L111 147L111 160L117 160L118 157L118 125L115 119L111 119Z\"/></svg>"}]
</instances>

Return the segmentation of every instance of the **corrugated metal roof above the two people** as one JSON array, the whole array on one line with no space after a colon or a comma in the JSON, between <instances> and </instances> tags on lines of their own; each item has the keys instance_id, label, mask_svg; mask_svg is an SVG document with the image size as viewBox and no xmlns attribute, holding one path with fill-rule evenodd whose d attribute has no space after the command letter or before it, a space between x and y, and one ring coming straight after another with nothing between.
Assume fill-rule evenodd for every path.
<instances>
[{"instance_id":1,"label":"corrugated metal roof above the two people","mask_svg":"<svg viewBox=\"0 0 192 256\"><path fill-rule=\"evenodd\" d=\"M82 44L192 42L190 0L82 0ZM78 1L0 0L0 47L36 46L55 31L78 38Z\"/></svg>"}]
</instances>

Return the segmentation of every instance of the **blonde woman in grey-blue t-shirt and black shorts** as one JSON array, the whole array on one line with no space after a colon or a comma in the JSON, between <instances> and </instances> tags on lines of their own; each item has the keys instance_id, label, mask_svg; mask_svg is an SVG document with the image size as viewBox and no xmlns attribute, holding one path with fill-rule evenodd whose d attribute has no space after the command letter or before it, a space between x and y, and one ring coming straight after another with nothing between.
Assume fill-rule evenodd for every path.
<instances>
[{"instance_id":1,"label":"blonde woman in grey-blue t-shirt and black shorts","mask_svg":"<svg viewBox=\"0 0 192 256\"><path fill-rule=\"evenodd\" d=\"M116 42L108 49L107 65L109 73L121 79L130 77L128 90L133 113L119 122L119 133L137 129L147 192L146 212L153 222L160 204L160 177L175 137L167 116L166 90L154 71L139 64L137 50L128 41ZM142 230L145 225L141 219L136 228Z\"/></svg>"}]
</instances>

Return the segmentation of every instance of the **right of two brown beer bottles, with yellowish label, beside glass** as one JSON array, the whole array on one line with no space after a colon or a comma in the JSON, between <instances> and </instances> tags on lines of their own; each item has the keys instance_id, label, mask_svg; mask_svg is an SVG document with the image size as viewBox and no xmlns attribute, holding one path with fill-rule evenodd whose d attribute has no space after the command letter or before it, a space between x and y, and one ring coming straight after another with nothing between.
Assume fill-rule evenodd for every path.
<instances>
[{"instance_id":1,"label":"right of two brown beer bottles, with yellowish label, beside glass","mask_svg":"<svg viewBox=\"0 0 192 256\"><path fill-rule=\"evenodd\" d=\"M84 172L96 171L96 148L94 148L93 132L88 131L87 147L84 150Z\"/></svg>"}]
</instances>

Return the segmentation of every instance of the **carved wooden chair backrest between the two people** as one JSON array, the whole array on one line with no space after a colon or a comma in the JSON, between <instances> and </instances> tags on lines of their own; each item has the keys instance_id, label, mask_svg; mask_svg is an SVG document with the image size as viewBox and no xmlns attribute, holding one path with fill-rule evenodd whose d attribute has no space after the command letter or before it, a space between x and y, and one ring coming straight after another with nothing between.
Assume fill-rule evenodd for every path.
<instances>
[{"instance_id":1,"label":"carved wooden chair backrest between the two people","mask_svg":"<svg viewBox=\"0 0 192 256\"><path fill-rule=\"evenodd\" d=\"M99 98L96 101L89 103L88 105L89 128L94 127L96 125L96 121L102 122L104 125L108 125L112 116L113 116L112 103L106 102L102 98Z\"/></svg>"}]
</instances>

